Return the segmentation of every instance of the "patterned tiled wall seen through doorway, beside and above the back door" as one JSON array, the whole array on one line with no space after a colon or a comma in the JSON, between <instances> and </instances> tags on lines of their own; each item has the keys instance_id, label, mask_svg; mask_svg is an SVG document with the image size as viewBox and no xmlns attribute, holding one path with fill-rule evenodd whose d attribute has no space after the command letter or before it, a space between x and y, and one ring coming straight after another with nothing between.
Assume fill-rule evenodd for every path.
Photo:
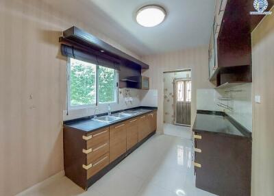
<instances>
[{"instance_id":1,"label":"patterned tiled wall seen through doorway, beside and above the back door","mask_svg":"<svg viewBox=\"0 0 274 196\"><path fill-rule=\"evenodd\" d=\"M175 123L174 79L191 77L191 71L164 73L164 123Z\"/></svg>"}]
</instances>

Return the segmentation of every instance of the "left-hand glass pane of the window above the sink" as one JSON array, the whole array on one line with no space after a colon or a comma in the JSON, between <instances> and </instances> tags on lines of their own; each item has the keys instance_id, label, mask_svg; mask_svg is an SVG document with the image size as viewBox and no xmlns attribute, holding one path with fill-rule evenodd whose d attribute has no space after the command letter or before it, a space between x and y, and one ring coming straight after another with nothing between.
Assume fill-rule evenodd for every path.
<instances>
[{"instance_id":1,"label":"left-hand glass pane of the window above the sink","mask_svg":"<svg viewBox=\"0 0 274 196\"><path fill-rule=\"evenodd\" d=\"M96 65L71 58L71 106L96 102Z\"/></svg>"}]
</instances>

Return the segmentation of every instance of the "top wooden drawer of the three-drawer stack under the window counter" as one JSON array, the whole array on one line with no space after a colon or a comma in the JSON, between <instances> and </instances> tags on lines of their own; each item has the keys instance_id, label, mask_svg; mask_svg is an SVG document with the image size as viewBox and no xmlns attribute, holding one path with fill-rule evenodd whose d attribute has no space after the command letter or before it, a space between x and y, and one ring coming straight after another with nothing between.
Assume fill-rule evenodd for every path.
<instances>
[{"instance_id":1,"label":"top wooden drawer of the three-drawer stack under the window counter","mask_svg":"<svg viewBox=\"0 0 274 196\"><path fill-rule=\"evenodd\" d=\"M86 140L86 149L90 149L92 147L108 143L110 139L110 134L108 127L98 130L96 132L92 132L88 134L84 140Z\"/></svg>"}]
</instances>

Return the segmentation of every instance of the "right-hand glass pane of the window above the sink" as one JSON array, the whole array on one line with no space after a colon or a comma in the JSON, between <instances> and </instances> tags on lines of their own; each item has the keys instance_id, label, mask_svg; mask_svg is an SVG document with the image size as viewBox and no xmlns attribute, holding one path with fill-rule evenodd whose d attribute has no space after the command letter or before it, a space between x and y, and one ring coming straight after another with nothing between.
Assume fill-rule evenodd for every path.
<instances>
[{"instance_id":1,"label":"right-hand glass pane of the window above the sink","mask_svg":"<svg viewBox=\"0 0 274 196\"><path fill-rule=\"evenodd\" d=\"M99 66L99 103L116 101L116 70Z\"/></svg>"}]
</instances>

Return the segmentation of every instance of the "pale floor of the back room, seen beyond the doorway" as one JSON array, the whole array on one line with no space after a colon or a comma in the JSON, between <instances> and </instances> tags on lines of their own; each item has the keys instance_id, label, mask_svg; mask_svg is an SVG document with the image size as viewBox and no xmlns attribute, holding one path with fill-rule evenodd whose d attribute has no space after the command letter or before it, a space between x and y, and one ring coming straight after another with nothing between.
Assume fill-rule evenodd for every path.
<instances>
[{"instance_id":1,"label":"pale floor of the back room, seen beyond the doorway","mask_svg":"<svg viewBox=\"0 0 274 196\"><path fill-rule=\"evenodd\" d=\"M190 139L192 133L190 127L164 123L164 134Z\"/></svg>"}]
</instances>

